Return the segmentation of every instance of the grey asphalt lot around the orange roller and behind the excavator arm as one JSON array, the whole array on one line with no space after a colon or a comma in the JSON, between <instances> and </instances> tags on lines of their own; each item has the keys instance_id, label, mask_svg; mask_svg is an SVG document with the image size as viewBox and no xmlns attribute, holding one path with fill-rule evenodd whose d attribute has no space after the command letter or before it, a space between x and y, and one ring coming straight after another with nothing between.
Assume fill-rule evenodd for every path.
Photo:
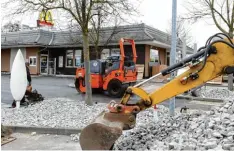
<instances>
[{"instance_id":1,"label":"grey asphalt lot around the orange roller and behind the excavator arm","mask_svg":"<svg viewBox=\"0 0 234 151\"><path fill-rule=\"evenodd\" d=\"M10 91L10 76L2 75L1 77L2 89L1 89L1 103L2 106L9 107L13 101L13 97ZM63 97L69 98L77 101L84 101L85 94L78 93L75 88L69 87L69 84L74 83L73 78L61 78L61 77L33 77L32 78L32 87L33 90L36 89L38 93L41 93L45 99ZM146 86L144 89L152 92L156 88L162 86L160 83L153 83L150 86ZM149 92L149 91L148 91ZM93 102L100 103L109 103L111 100L120 101L120 98L111 98L107 94L93 94ZM162 105L169 107L169 101L165 101L161 103ZM180 109L185 105L190 109L201 109L201 110L210 110L213 105L219 103L214 102L199 102L199 101L191 101L185 99L176 99L176 108Z\"/></svg>"}]
</instances>

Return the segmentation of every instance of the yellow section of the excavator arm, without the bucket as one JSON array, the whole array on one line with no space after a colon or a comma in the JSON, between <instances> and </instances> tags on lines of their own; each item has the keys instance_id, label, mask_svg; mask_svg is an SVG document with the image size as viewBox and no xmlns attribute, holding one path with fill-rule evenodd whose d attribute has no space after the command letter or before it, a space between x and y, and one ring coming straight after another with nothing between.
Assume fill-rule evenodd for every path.
<instances>
[{"instance_id":1,"label":"yellow section of the excavator arm, without the bucket","mask_svg":"<svg viewBox=\"0 0 234 151\"><path fill-rule=\"evenodd\" d=\"M168 82L160 89L148 94L139 87L129 87L125 96L121 100L121 104L126 105L130 97L135 94L141 98L137 103L140 110L144 110L152 105L159 104L171 97L184 93L192 88L202 85L207 81L210 81L220 75L234 72L234 48L233 44L227 45L223 42L215 42L212 46L205 48L203 51L198 52L186 58L180 63L177 63L172 68L162 71L161 74L166 75L170 70L174 70L175 67L186 64L186 60L192 61L185 66L190 66L190 69L185 73L179 75L172 81ZM205 55L207 52L207 59L202 58L196 60L201 55ZM205 57L205 56L204 56Z\"/></svg>"}]
</instances>

